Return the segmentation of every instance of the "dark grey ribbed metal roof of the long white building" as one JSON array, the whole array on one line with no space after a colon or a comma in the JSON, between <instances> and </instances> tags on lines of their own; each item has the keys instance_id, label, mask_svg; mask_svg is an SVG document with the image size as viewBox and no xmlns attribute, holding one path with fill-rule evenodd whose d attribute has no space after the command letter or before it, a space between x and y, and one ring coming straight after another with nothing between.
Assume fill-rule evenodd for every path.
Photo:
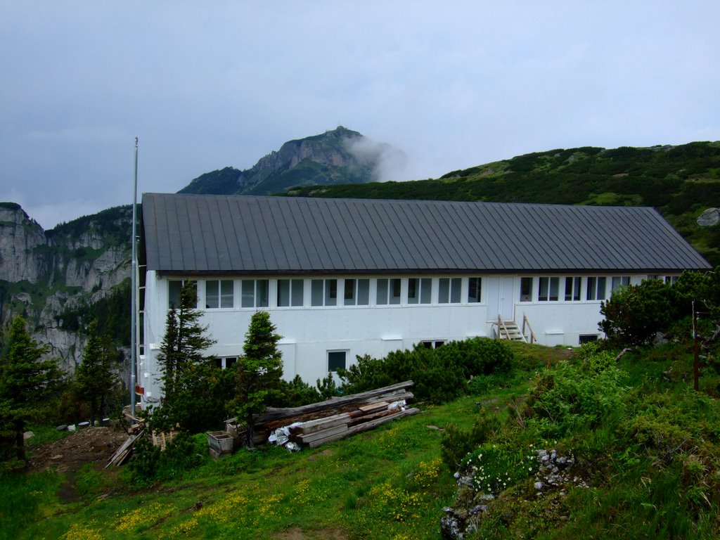
<instances>
[{"instance_id":1,"label":"dark grey ribbed metal roof of the long white building","mask_svg":"<svg viewBox=\"0 0 720 540\"><path fill-rule=\"evenodd\" d=\"M143 195L149 270L168 274L708 269L644 207Z\"/></svg>"}]
</instances>

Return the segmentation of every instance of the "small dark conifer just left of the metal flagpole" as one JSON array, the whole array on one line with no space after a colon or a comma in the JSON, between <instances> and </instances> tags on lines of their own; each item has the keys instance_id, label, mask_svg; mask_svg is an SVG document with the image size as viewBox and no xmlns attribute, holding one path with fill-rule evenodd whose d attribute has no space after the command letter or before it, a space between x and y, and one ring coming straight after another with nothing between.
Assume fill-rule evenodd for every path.
<instances>
[{"instance_id":1,"label":"small dark conifer just left of the metal flagpole","mask_svg":"<svg viewBox=\"0 0 720 540\"><path fill-rule=\"evenodd\" d=\"M100 336L97 320L89 327L89 339L83 351L82 364L78 366L76 380L80 395L90 402L90 422L95 425L97 416L104 413L105 402L117 385L117 372L113 369L117 360L117 349L109 336Z\"/></svg>"}]
</instances>

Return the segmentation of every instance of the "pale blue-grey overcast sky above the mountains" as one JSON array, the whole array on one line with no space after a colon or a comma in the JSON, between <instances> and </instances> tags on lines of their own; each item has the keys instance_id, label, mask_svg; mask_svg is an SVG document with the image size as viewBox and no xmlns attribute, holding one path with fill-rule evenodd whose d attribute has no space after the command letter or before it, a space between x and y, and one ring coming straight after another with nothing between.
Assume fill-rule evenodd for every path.
<instances>
[{"instance_id":1,"label":"pale blue-grey overcast sky above the mountains","mask_svg":"<svg viewBox=\"0 0 720 540\"><path fill-rule=\"evenodd\" d=\"M343 125L393 179L720 140L720 1L0 0L0 201L44 228Z\"/></svg>"}]
</instances>

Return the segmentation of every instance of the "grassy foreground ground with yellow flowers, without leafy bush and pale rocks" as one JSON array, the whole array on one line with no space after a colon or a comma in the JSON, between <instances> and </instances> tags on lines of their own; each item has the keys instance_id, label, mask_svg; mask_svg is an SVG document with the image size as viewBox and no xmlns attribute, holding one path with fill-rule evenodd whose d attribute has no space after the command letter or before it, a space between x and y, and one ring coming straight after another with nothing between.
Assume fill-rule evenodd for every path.
<instances>
[{"instance_id":1,"label":"grassy foreground ground with yellow flowers, without leafy bush and pale rocks","mask_svg":"<svg viewBox=\"0 0 720 540\"><path fill-rule=\"evenodd\" d=\"M2 478L0 538L438 539L456 485L432 426L468 429L483 404L505 426L491 444L532 440L572 449L590 488L539 500L526 478L495 500L478 538L716 537L720 407L706 392L717 392L717 377L706 374L706 392L691 392L687 348L626 356L631 390L623 415L554 441L518 428L506 404L567 351L515 348L518 369L506 387L423 407L421 415L320 449L238 451L143 489L128 487L127 469L86 470L78 475L84 501L66 505L52 495L57 475Z\"/></svg>"}]
</instances>

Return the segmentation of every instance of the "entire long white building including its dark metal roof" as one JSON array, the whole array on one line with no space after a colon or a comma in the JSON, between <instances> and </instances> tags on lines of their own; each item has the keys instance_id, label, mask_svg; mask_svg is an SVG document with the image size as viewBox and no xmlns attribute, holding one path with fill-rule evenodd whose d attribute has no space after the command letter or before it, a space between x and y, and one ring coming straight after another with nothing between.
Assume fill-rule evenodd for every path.
<instances>
[{"instance_id":1,"label":"entire long white building including its dark metal roof","mask_svg":"<svg viewBox=\"0 0 720 540\"><path fill-rule=\"evenodd\" d=\"M415 343L497 336L544 345L601 336L600 302L708 263L652 208L368 199L143 195L144 400L183 280L223 365L267 310L284 377L307 382Z\"/></svg>"}]
</instances>

